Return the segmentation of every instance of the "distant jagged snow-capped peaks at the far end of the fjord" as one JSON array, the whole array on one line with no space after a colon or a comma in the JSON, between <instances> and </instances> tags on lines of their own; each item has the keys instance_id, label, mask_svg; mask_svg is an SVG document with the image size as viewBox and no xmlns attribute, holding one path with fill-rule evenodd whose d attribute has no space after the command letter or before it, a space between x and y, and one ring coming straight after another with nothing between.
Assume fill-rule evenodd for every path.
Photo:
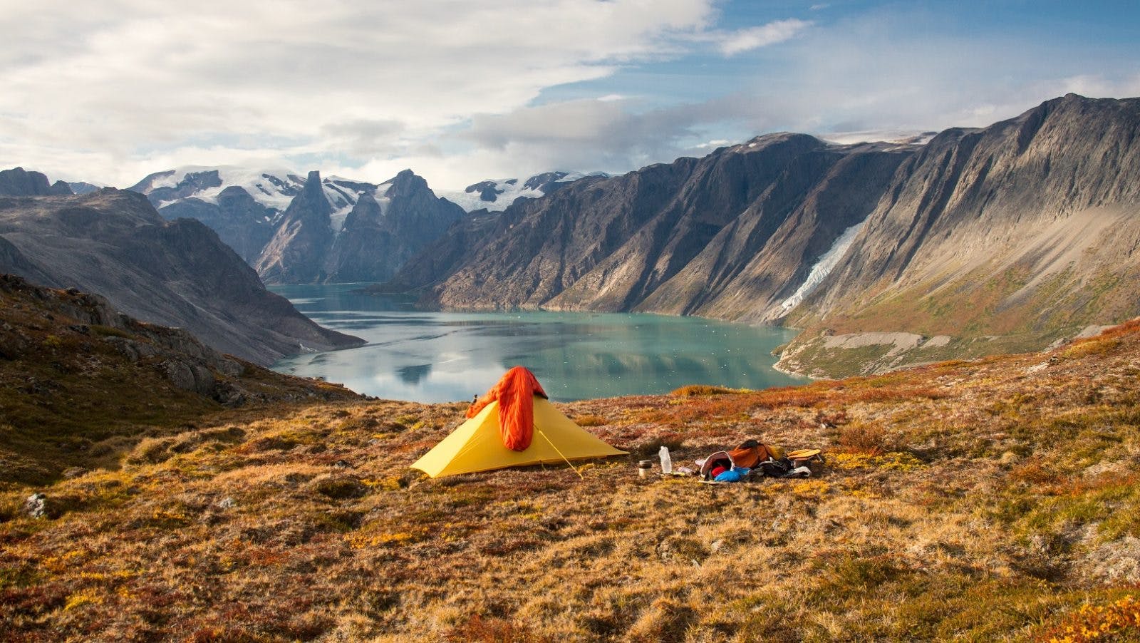
<instances>
[{"instance_id":1,"label":"distant jagged snow-capped peaks at the far end of the fjord","mask_svg":"<svg viewBox=\"0 0 1140 643\"><path fill-rule=\"evenodd\" d=\"M376 185L319 172L187 166L130 189L166 219L213 228L267 283L386 279L463 217L410 170Z\"/></svg>"}]
</instances>

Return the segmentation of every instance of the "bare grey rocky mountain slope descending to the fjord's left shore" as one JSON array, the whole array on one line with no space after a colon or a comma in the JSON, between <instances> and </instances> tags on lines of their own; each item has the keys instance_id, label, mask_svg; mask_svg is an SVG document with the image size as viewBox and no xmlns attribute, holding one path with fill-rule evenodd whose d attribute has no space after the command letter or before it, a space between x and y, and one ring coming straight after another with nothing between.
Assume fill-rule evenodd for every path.
<instances>
[{"instance_id":1,"label":"bare grey rocky mountain slope descending to the fjord's left shore","mask_svg":"<svg viewBox=\"0 0 1140 643\"><path fill-rule=\"evenodd\" d=\"M0 235L18 251L0 271L106 296L139 319L185 327L259 364L359 343L314 324L198 221L164 221L141 195L0 198Z\"/></svg>"}]
</instances>

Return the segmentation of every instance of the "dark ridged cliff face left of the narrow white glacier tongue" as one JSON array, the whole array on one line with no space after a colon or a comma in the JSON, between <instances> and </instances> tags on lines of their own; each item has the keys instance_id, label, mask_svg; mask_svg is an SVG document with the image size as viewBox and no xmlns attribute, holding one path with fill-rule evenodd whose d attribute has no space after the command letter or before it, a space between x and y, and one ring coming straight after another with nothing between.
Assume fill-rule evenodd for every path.
<instances>
[{"instance_id":1,"label":"dark ridged cliff face left of the narrow white glacier tongue","mask_svg":"<svg viewBox=\"0 0 1140 643\"><path fill-rule=\"evenodd\" d=\"M760 318L763 302L796 288L813 253L874 207L913 149L769 135L700 160L583 179L454 229L392 286L427 290L453 307Z\"/></svg>"}]
</instances>

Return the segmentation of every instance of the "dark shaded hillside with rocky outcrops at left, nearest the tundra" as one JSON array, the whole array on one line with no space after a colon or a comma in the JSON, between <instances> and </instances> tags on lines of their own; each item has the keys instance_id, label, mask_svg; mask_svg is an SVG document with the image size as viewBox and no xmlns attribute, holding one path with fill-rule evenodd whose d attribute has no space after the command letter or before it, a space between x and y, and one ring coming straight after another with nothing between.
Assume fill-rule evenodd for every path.
<instances>
[{"instance_id":1,"label":"dark shaded hillside with rocky outcrops at left, nearest the tundra","mask_svg":"<svg viewBox=\"0 0 1140 643\"><path fill-rule=\"evenodd\" d=\"M192 368L212 384L197 385ZM179 369L192 388L171 375ZM114 467L146 437L314 399L359 396L223 357L101 298L0 275L0 489Z\"/></svg>"}]
</instances>

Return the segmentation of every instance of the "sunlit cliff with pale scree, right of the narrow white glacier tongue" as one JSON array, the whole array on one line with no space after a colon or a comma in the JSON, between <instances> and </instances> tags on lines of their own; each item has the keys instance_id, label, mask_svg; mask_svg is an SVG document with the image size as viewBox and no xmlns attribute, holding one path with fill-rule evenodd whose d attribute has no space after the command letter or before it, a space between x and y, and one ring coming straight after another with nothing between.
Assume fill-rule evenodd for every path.
<instances>
[{"instance_id":1,"label":"sunlit cliff with pale scree, right of the narrow white glacier tongue","mask_svg":"<svg viewBox=\"0 0 1140 643\"><path fill-rule=\"evenodd\" d=\"M1140 99L947 130L888 195L791 320L1034 334L1140 314Z\"/></svg>"}]
</instances>

